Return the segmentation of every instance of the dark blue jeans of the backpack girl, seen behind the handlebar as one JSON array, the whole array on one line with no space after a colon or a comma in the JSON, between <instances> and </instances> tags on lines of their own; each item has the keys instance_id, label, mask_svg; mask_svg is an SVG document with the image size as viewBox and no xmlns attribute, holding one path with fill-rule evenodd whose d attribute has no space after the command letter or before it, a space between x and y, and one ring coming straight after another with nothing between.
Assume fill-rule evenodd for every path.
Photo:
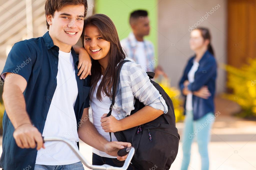
<instances>
[{"instance_id":1,"label":"dark blue jeans of the backpack girl, seen behind the handlebar","mask_svg":"<svg viewBox=\"0 0 256 170\"><path fill-rule=\"evenodd\" d=\"M115 166L115 167L122 167L124 165L124 161L119 161L116 158L106 158L106 157L101 157L95 153L92 153L92 164L93 165L110 165L110 166ZM130 164L127 168L127 170L136 170L135 167Z\"/></svg>"}]
</instances>

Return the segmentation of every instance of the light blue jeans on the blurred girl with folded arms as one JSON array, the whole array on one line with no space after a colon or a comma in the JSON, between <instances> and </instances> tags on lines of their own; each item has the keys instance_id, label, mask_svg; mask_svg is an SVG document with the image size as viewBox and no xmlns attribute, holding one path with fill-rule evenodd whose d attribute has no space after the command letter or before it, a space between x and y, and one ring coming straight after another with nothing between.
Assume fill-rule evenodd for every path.
<instances>
[{"instance_id":1,"label":"light blue jeans on the blurred girl with folded arms","mask_svg":"<svg viewBox=\"0 0 256 170\"><path fill-rule=\"evenodd\" d=\"M207 113L200 119L193 120L193 112L187 111L185 117L185 128L183 132L183 160L181 170L187 170L190 162L191 144L193 138L197 138L198 150L201 156L201 169L209 169L208 143L211 136L211 128L215 116L213 113Z\"/></svg>"}]
</instances>

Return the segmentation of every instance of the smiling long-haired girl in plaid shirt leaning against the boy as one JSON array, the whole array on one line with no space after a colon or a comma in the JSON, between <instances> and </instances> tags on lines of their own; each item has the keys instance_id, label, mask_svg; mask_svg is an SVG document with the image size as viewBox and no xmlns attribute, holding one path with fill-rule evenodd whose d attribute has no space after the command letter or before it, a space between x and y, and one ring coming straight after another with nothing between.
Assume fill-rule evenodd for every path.
<instances>
[{"instance_id":1,"label":"smiling long-haired girl in plaid shirt leaning against the boy","mask_svg":"<svg viewBox=\"0 0 256 170\"><path fill-rule=\"evenodd\" d=\"M110 141L109 132L117 132L135 127L156 119L168 111L159 91L150 82L142 67L125 58L114 23L103 14L96 14L84 20L83 46L92 58L90 106L93 125L98 132ZM112 102L112 86L116 81L116 67L122 60L126 62L120 72L118 91L112 115L106 117ZM145 107L130 115L135 98ZM129 116L130 115L130 116ZM117 141L114 134L112 141ZM93 149L94 165L109 164L123 166L124 161L105 152ZM128 169L135 169L130 164Z\"/></svg>"}]
</instances>

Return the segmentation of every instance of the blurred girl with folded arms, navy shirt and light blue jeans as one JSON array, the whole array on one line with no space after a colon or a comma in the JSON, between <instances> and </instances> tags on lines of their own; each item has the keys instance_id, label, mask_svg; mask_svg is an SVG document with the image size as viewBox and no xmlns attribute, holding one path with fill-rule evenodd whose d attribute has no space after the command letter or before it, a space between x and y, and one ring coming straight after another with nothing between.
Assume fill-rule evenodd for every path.
<instances>
[{"instance_id":1,"label":"blurred girl with folded arms, navy shirt and light blue jeans","mask_svg":"<svg viewBox=\"0 0 256 170\"><path fill-rule=\"evenodd\" d=\"M215 120L214 94L217 64L206 28L190 33L190 49L195 52L185 67L179 87L185 98L185 128L183 132L183 161L181 169L188 169L193 137L197 137L201 169L209 169L208 143Z\"/></svg>"}]
</instances>

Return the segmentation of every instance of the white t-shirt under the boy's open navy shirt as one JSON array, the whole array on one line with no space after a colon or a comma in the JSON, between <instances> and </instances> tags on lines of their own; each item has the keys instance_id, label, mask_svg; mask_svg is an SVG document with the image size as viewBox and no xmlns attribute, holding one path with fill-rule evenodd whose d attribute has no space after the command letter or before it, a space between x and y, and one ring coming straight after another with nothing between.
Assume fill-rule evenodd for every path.
<instances>
[{"instance_id":1,"label":"white t-shirt under the boy's open navy shirt","mask_svg":"<svg viewBox=\"0 0 256 170\"><path fill-rule=\"evenodd\" d=\"M57 87L52 97L42 136L62 137L70 140L77 147L79 138L74 105L78 96L78 87L71 51L69 53L59 51L56 79ZM67 165L79 161L66 143L55 141L45 142L45 149L41 148L36 158L36 164L40 165Z\"/></svg>"}]
</instances>

